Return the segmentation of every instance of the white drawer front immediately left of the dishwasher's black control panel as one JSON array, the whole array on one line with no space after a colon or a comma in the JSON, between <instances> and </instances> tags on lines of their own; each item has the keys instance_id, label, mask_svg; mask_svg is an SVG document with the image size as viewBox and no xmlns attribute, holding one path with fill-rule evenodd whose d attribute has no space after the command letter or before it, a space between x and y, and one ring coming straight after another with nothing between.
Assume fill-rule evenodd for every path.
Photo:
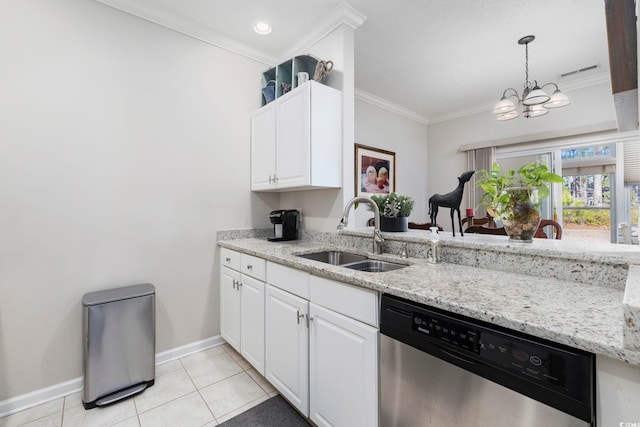
<instances>
[{"instance_id":1,"label":"white drawer front immediately left of the dishwasher's black control panel","mask_svg":"<svg viewBox=\"0 0 640 427\"><path fill-rule=\"evenodd\" d=\"M309 293L313 303L376 328L379 325L378 293L375 291L311 276Z\"/></svg>"}]
</instances>

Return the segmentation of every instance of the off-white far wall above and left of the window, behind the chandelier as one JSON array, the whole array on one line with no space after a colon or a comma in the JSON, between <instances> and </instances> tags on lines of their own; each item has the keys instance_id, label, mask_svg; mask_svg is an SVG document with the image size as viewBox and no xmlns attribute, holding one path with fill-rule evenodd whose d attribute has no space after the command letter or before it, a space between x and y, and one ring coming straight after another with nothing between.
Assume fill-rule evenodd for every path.
<instances>
[{"instance_id":1,"label":"off-white far wall above and left of the window, behind the chandelier","mask_svg":"<svg viewBox=\"0 0 640 427\"><path fill-rule=\"evenodd\" d=\"M467 170L467 155L460 151L461 145L501 140L546 133L551 137L568 129L588 129L590 126L616 120L611 86L598 84L567 92L571 105L551 111L549 114L525 119L518 117L507 122L495 120L491 111L448 120L428 126L428 194L447 193L458 185L457 177ZM462 200L461 214L464 216L465 197ZM449 209L438 214L438 223L451 230Z\"/></svg>"}]
</instances>

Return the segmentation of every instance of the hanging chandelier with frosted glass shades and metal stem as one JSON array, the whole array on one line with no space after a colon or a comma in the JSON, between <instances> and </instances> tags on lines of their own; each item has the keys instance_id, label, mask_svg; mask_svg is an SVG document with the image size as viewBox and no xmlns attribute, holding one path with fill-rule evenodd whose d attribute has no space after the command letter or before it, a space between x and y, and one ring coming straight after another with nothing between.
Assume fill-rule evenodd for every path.
<instances>
[{"instance_id":1,"label":"hanging chandelier with frosted glass shades and metal stem","mask_svg":"<svg viewBox=\"0 0 640 427\"><path fill-rule=\"evenodd\" d=\"M493 114L497 114L496 120L505 121L518 117L518 107L522 105L522 114L528 119L544 116L549 109L560 108L569 105L569 98L558 89L555 83L546 83L542 87L538 86L536 80L529 81L529 43L535 40L535 36L524 36L518 40L518 44L525 47L525 83L522 96L518 91L509 88L502 93L502 98L493 108ZM555 91L549 96L544 88L555 87Z\"/></svg>"}]
</instances>

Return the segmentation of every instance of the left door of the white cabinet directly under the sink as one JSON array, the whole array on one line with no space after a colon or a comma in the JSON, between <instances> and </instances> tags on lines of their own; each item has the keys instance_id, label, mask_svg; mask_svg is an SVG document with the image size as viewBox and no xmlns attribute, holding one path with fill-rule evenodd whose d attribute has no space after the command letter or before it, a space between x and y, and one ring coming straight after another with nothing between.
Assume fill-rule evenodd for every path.
<instances>
[{"instance_id":1,"label":"left door of the white cabinet directly under the sink","mask_svg":"<svg viewBox=\"0 0 640 427\"><path fill-rule=\"evenodd\" d=\"M309 302L266 286L265 377L301 413L309 414Z\"/></svg>"}]
</instances>

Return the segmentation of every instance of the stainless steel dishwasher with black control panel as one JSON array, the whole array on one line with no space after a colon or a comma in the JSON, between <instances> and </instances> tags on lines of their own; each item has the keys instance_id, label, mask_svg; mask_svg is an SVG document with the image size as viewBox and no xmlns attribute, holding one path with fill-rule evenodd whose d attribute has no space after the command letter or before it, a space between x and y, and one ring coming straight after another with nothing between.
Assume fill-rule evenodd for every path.
<instances>
[{"instance_id":1,"label":"stainless steel dishwasher with black control panel","mask_svg":"<svg viewBox=\"0 0 640 427\"><path fill-rule=\"evenodd\" d=\"M595 426L595 356L383 295L382 427Z\"/></svg>"}]
</instances>

